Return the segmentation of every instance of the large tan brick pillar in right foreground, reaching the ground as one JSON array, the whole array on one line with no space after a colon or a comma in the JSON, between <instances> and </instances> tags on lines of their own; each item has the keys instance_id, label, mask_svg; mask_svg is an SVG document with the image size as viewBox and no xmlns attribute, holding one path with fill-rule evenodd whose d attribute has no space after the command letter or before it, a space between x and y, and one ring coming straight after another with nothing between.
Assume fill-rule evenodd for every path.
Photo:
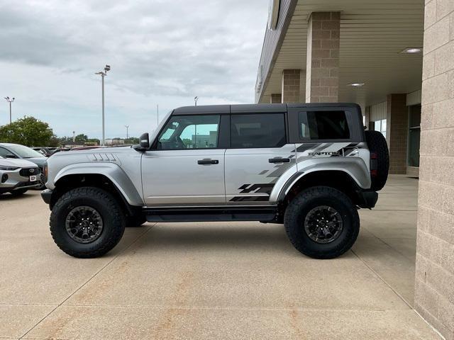
<instances>
[{"instance_id":1,"label":"large tan brick pillar in right foreground, reaching the ground","mask_svg":"<svg viewBox=\"0 0 454 340\"><path fill-rule=\"evenodd\" d=\"M426 0L415 308L454 339L454 1Z\"/></svg>"}]
</instances>

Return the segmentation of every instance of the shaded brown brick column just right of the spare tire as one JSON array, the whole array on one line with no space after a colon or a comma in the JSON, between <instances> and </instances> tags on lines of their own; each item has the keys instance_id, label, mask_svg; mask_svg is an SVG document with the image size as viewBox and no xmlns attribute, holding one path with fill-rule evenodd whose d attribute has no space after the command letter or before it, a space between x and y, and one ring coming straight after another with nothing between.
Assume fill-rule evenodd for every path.
<instances>
[{"instance_id":1,"label":"shaded brown brick column just right of the spare tire","mask_svg":"<svg viewBox=\"0 0 454 340\"><path fill-rule=\"evenodd\" d=\"M409 133L406 94L389 94L387 96L386 118L389 173L406 174L406 141Z\"/></svg>"}]
</instances>

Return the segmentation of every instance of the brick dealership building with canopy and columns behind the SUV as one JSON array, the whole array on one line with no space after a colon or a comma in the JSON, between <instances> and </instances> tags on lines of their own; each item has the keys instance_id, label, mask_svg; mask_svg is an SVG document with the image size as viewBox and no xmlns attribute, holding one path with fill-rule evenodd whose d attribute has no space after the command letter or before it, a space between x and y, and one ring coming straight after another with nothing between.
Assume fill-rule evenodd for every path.
<instances>
[{"instance_id":1,"label":"brick dealership building with canopy and columns behind the SUV","mask_svg":"<svg viewBox=\"0 0 454 340\"><path fill-rule=\"evenodd\" d=\"M419 176L414 305L454 339L454 1L272 0L255 100L360 104Z\"/></svg>"}]
</instances>

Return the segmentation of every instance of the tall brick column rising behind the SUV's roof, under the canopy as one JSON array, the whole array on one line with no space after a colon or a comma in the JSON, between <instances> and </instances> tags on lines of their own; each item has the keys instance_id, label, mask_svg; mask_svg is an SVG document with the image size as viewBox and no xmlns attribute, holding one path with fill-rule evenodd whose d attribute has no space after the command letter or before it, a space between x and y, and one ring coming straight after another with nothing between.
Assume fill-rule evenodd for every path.
<instances>
[{"instance_id":1,"label":"tall brick column rising behind the SUV's roof, under the canopy","mask_svg":"<svg viewBox=\"0 0 454 340\"><path fill-rule=\"evenodd\" d=\"M307 31L306 102L338 102L340 12L314 12Z\"/></svg>"}]
</instances>

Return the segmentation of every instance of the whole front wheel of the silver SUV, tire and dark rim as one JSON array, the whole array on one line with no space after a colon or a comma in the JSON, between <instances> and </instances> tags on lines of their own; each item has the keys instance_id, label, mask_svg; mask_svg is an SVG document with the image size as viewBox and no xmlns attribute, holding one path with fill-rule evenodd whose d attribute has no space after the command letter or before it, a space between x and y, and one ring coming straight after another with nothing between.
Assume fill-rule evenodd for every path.
<instances>
[{"instance_id":1,"label":"whole front wheel of the silver SUV, tire and dark rim","mask_svg":"<svg viewBox=\"0 0 454 340\"><path fill-rule=\"evenodd\" d=\"M74 188L57 200L50 214L50 232L66 254L93 258L106 254L125 229L118 201L101 188Z\"/></svg>"}]
</instances>

